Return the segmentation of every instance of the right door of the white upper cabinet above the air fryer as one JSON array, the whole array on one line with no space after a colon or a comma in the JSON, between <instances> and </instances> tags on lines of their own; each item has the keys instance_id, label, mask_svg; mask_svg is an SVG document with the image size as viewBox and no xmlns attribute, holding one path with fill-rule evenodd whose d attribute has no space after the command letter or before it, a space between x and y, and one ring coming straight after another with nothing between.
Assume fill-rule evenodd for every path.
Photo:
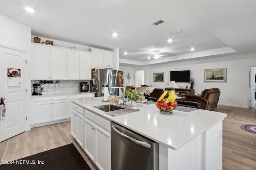
<instances>
[{"instance_id":1,"label":"right door of the white upper cabinet above the air fryer","mask_svg":"<svg viewBox=\"0 0 256 170\"><path fill-rule=\"evenodd\" d=\"M92 79L92 54L80 52L80 80Z\"/></svg>"}]
</instances>

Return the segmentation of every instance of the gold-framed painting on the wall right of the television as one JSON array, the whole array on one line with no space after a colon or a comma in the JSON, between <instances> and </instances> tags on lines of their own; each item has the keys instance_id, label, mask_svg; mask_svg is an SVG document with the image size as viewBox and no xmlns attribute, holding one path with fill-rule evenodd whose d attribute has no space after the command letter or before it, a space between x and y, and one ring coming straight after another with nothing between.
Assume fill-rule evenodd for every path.
<instances>
[{"instance_id":1,"label":"gold-framed painting on the wall right of the television","mask_svg":"<svg viewBox=\"0 0 256 170\"><path fill-rule=\"evenodd\" d=\"M226 68L204 70L204 82L226 82Z\"/></svg>"}]
</instances>

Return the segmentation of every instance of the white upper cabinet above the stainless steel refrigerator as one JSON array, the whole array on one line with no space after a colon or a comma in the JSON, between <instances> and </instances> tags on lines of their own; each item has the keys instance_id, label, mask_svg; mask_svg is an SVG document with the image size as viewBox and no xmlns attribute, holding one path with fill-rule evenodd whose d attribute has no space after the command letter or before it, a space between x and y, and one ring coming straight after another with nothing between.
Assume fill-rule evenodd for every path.
<instances>
[{"instance_id":1,"label":"white upper cabinet above the stainless steel refrigerator","mask_svg":"<svg viewBox=\"0 0 256 170\"><path fill-rule=\"evenodd\" d=\"M91 48L92 68L105 68L107 65L113 66L113 52Z\"/></svg>"}]
</instances>

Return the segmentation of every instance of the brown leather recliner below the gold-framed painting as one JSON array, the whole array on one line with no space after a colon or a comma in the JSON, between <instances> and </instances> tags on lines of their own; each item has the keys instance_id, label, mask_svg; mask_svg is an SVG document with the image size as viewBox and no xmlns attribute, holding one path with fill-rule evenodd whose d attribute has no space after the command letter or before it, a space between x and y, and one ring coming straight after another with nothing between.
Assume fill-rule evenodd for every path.
<instances>
[{"instance_id":1,"label":"brown leather recliner below the gold-framed painting","mask_svg":"<svg viewBox=\"0 0 256 170\"><path fill-rule=\"evenodd\" d=\"M191 102L201 103L201 109L212 110L217 107L220 97L220 89L210 88L205 89L200 96L187 94L186 100Z\"/></svg>"}]
</instances>

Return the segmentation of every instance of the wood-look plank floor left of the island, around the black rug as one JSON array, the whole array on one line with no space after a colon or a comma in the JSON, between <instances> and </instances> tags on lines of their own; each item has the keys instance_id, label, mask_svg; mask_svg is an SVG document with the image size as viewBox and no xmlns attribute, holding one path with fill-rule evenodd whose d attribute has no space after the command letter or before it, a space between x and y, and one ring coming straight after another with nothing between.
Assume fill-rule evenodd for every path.
<instances>
[{"instance_id":1,"label":"wood-look plank floor left of the island, around the black rug","mask_svg":"<svg viewBox=\"0 0 256 170\"><path fill-rule=\"evenodd\" d=\"M94 162L71 135L70 121L34 127L0 142L0 160L16 160L73 143L92 170L98 170Z\"/></svg>"}]
</instances>

